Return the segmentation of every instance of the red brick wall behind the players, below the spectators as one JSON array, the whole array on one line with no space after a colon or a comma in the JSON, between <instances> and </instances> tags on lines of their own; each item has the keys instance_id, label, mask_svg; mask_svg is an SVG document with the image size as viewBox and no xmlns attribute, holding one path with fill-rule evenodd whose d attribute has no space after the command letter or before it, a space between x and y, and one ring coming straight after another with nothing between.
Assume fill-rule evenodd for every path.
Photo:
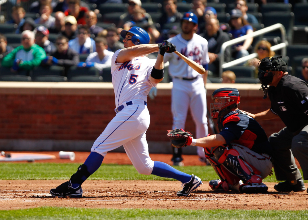
<instances>
[{"instance_id":1,"label":"red brick wall behind the players, below the spectators","mask_svg":"<svg viewBox=\"0 0 308 220\"><path fill-rule=\"evenodd\" d=\"M208 94L212 94L213 90ZM269 99L241 94L241 110L257 113L270 106ZM0 139L29 140L89 140L94 141L115 116L114 94L0 94ZM208 95L208 106L211 97ZM172 127L170 95L159 93L148 100L151 115L148 141L167 142L166 133ZM260 121L267 135L284 127L280 119ZM133 128L132 128L133 129ZM186 128L195 133L189 114Z\"/></svg>"}]
</instances>

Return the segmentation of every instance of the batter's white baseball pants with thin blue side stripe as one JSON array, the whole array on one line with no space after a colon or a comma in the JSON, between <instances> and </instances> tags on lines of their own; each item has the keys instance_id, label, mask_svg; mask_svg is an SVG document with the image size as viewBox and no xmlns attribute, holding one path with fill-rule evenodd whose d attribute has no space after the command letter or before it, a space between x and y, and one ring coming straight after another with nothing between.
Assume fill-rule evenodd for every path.
<instances>
[{"instance_id":1,"label":"batter's white baseball pants with thin blue side stripe","mask_svg":"<svg viewBox=\"0 0 308 220\"><path fill-rule=\"evenodd\" d=\"M154 167L148 152L146 131L150 125L150 114L143 100L132 100L108 123L101 135L95 140L91 152L106 156L108 151L124 146L128 158L136 170L150 175Z\"/></svg>"}]
</instances>

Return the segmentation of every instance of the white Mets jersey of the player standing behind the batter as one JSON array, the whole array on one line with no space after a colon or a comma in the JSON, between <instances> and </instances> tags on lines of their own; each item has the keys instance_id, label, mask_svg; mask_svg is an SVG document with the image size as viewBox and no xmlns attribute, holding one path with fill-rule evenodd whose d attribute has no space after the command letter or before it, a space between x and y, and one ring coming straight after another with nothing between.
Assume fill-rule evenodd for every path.
<instances>
[{"instance_id":1,"label":"white Mets jersey of the player standing behind the batter","mask_svg":"<svg viewBox=\"0 0 308 220\"><path fill-rule=\"evenodd\" d=\"M176 50L178 52L196 63L200 65L209 63L208 41L200 35L194 34L193 38L187 41L182 38L181 34L178 34L168 39L168 41L176 45ZM201 77L197 71L188 66L187 63L175 53L165 53L164 62L166 63L167 61L169 61L170 67L172 66L172 68L169 67L169 74L173 77Z\"/></svg>"}]
</instances>

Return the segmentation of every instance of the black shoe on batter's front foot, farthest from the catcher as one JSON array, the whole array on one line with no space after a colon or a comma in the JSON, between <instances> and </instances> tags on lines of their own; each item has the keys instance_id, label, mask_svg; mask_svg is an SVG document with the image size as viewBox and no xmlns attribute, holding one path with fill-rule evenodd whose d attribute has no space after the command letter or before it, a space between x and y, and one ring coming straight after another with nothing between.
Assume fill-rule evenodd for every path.
<instances>
[{"instance_id":1,"label":"black shoe on batter's front foot, farthest from the catcher","mask_svg":"<svg viewBox=\"0 0 308 220\"><path fill-rule=\"evenodd\" d=\"M79 198L82 197L82 189L81 185L79 185L77 188L72 187L71 181L67 181L65 183L62 183L55 189L50 190L50 194L54 197L74 197Z\"/></svg>"}]
</instances>

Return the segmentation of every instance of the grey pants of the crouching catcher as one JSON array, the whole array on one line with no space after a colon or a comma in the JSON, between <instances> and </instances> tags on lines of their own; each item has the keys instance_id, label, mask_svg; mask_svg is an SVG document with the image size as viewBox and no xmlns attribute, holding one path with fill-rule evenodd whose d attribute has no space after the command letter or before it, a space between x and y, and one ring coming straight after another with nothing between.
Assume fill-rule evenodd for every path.
<instances>
[{"instance_id":1,"label":"grey pants of the crouching catcher","mask_svg":"<svg viewBox=\"0 0 308 220\"><path fill-rule=\"evenodd\" d=\"M247 163L253 165L261 172L260 176L262 180L270 174L273 168L273 164L270 161L270 156L267 154L258 154L250 150L248 147L239 144L232 144L232 148L237 150L239 155L242 156Z\"/></svg>"}]
</instances>

